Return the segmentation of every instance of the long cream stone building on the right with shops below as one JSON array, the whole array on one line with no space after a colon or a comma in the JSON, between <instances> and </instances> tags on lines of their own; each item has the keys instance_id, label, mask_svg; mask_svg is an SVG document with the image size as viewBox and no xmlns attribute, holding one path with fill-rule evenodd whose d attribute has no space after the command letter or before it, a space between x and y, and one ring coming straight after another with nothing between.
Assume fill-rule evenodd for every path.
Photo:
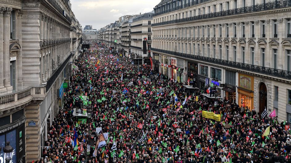
<instances>
[{"instance_id":1,"label":"long cream stone building on the right with shops below","mask_svg":"<svg viewBox=\"0 0 291 163\"><path fill-rule=\"evenodd\" d=\"M152 55L168 78L218 80L220 97L291 121L290 10L290 0L162 0Z\"/></svg>"}]
</instances>

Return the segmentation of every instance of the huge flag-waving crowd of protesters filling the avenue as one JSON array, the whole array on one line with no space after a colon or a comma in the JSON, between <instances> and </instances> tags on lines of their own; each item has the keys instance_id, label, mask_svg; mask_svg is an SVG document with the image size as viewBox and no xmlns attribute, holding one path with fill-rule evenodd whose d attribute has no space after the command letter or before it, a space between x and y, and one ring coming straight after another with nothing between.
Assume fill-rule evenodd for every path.
<instances>
[{"instance_id":1,"label":"huge flag-waving crowd of protesters filling the avenue","mask_svg":"<svg viewBox=\"0 0 291 163\"><path fill-rule=\"evenodd\" d=\"M137 68L103 43L91 43L75 64L78 70L64 93L64 107L48 128L41 162L291 162L289 123L277 117L260 118L254 109L226 99L214 106L201 91L189 95L183 83ZM84 96L88 100L82 101ZM78 123L74 108L88 106L91 119ZM203 118L202 111L220 114L221 121ZM96 127L102 132L96 133ZM263 136L267 128L270 133ZM75 133L77 148L71 141ZM98 148L102 133L108 133L108 140Z\"/></svg>"}]
</instances>

